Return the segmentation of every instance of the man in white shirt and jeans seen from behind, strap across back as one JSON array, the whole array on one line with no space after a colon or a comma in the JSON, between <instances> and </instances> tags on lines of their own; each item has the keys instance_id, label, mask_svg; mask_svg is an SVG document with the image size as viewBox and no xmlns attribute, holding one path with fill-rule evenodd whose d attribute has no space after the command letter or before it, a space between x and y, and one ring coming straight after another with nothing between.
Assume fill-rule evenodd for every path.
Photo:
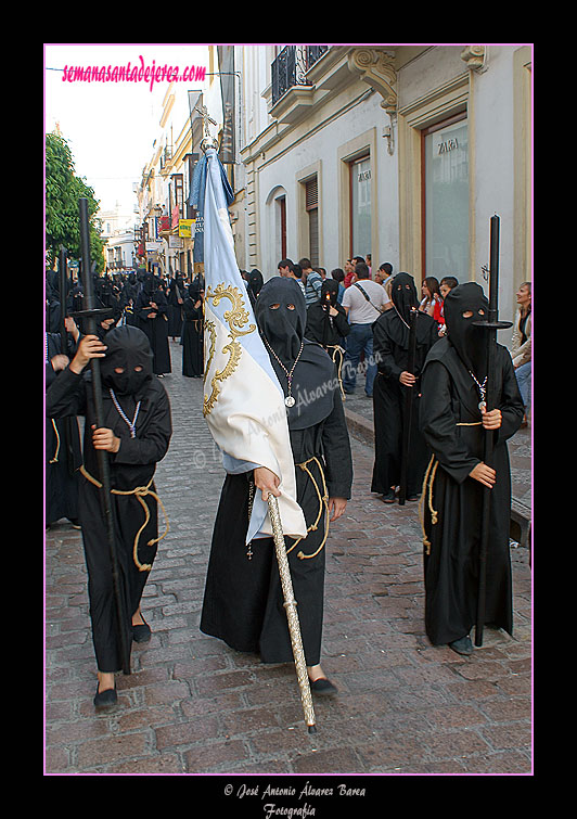
<instances>
[{"instance_id":1,"label":"man in white shirt and jeans seen from behind, strap across back","mask_svg":"<svg viewBox=\"0 0 577 819\"><path fill-rule=\"evenodd\" d=\"M357 263L355 273L357 281L346 289L343 296L343 307L350 323L343 366L343 388L348 395L355 392L357 368L361 353L364 351L364 392L370 397L376 375L376 363L373 359L373 324L379 316L392 306L392 302L383 285L369 279L369 268L363 261Z\"/></svg>"}]
</instances>

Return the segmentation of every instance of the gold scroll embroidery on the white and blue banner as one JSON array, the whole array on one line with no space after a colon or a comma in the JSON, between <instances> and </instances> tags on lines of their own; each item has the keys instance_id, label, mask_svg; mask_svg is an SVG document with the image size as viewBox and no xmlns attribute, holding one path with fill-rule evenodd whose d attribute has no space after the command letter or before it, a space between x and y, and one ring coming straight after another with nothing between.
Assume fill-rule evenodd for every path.
<instances>
[{"instance_id":1,"label":"gold scroll embroidery on the white and blue banner","mask_svg":"<svg viewBox=\"0 0 577 819\"><path fill-rule=\"evenodd\" d=\"M206 298L213 299L213 305L216 307L221 298L228 298L230 299L230 303L232 305L230 310L226 310L223 313L225 321L229 324L229 344L225 345L222 347L222 353L226 353L229 355L229 360L225 364L222 370L217 370L215 375L213 376L210 381L210 395L208 398L206 395L204 396L203 401L203 414L206 417L211 411L213 407L215 406L218 395L220 393L220 385L219 382L225 381L229 377L229 375L232 375L234 370L236 369L239 361L241 359L242 354L242 347L236 341L236 338L240 335L248 335L249 333L254 333L256 330L256 324L249 324L247 330L241 330L244 324L249 319L249 313L244 307L244 300L241 291L238 287L234 287L232 284L229 284L228 286L225 286L225 283L221 282L220 284L217 284L215 287L215 291L213 292L211 287L208 287L206 293ZM210 332L210 350L208 354L208 361L205 367L205 384L206 384L206 377L208 373L208 369L213 362L213 358L215 355L215 346L216 346L216 328L215 324L211 321L206 321L206 325L208 327L208 331Z\"/></svg>"}]
</instances>

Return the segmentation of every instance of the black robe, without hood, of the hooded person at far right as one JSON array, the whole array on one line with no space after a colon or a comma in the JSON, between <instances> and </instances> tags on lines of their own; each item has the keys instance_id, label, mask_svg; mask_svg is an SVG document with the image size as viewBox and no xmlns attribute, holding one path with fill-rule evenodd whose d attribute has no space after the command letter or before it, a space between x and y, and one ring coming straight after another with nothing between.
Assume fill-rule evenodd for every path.
<instances>
[{"instance_id":1,"label":"black robe, without hood, of the hooded person at far right","mask_svg":"<svg viewBox=\"0 0 577 819\"><path fill-rule=\"evenodd\" d=\"M502 425L486 433L478 423L478 389L456 348L441 338L428 354L422 374L420 425L434 458L421 503L425 629L434 645L469 635L476 622L484 486L469 473L484 459L486 434L495 435L491 465L497 482L490 490L485 624L509 634L513 630L507 440L521 425L523 401L511 355L501 345L497 345L496 387L495 407L501 410Z\"/></svg>"}]
</instances>

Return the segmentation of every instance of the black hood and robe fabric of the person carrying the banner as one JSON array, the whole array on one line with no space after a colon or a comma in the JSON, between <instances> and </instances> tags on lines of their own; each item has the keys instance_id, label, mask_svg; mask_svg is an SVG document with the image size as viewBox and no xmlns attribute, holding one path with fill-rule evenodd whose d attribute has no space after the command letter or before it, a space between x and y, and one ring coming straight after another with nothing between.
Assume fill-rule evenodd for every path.
<instances>
[{"instance_id":1,"label":"black hood and robe fabric of the person carrying the banner","mask_svg":"<svg viewBox=\"0 0 577 819\"><path fill-rule=\"evenodd\" d=\"M296 282L281 279L283 284L279 284L279 280L275 277L265 284L257 307L262 308L267 298L282 303L288 287L290 297L302 308L302 338L306 323L304 296ZM286 379L272 357L271 363L286 394ZM310 396L315 384L322 386L329 381L331 388L321 389L323 397L318 401L298 400L298 396ZM297 502L309 532L296 545L291 537L285 542L306 664L311 666L320 662L321 653L329 525L318 491L324 495L325 482L328 497L348 499L352 484L350 445L336 371L319 345L305 343L294 371L292 394L297 397L296 406L288 410L293 459L295 464L306 465L295 466ZM213 533L201 630L236 651L259 654L264 663L290 663L294 657L273 540L255 538L249 548L245 542L251 496L260 491L252 479L252 471L228 474L225 479Z\"/></svg>"}]
</instances>

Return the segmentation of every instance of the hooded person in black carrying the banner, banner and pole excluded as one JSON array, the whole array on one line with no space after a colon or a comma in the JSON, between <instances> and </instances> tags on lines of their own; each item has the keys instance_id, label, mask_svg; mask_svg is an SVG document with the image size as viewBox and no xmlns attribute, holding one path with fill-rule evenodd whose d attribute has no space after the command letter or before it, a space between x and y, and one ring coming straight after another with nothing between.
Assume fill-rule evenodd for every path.
<instances>
[{"instance_id":1,"label":"hooded person in black carrying the banner, banner and pole excluded","mask_svg":"<svg viewBox=\"0 0 577 819\"><path fill-rule=\"evenodd\" d=\"M255 305L260 336L284 392L296 501L305 537L285 536L306 665L313 693L334 693L320 666L325 545L329 522L350 498L352 465L334 363L305 338L307 310L296 282L274 277ZM255 395L258 404L258 396ZM270 420L271 424L274 419ZM208 564L201 630L265 663L293 660L272 537L256 533L246 543L258 496L279 492L279 476L256 465L229 474L220 497Z\"/></svg>"}]
</instances>

